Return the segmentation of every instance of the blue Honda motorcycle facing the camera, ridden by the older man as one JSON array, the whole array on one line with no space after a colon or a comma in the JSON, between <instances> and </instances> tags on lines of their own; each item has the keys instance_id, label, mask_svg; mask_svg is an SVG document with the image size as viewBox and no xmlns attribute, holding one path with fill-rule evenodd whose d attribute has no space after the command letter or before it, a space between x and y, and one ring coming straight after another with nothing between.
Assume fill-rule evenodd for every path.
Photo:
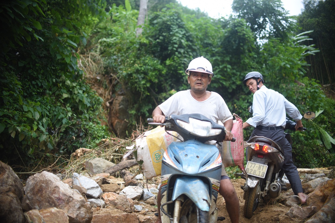
<instances>
[{"instance_id":1,"label":"blue Honda motorcycle facing the camera, ridden by the older man","mask_svg":"<svg viewBox=\"0 0 335 223\"><path fill-rule=\"evenodd\" d=\"M225 127L200 114L171 115L164 124L147 121L179 134L162 159L162 223L215 223L222 168L215 143L223 141Z\"/></svg>"}]
</instances>

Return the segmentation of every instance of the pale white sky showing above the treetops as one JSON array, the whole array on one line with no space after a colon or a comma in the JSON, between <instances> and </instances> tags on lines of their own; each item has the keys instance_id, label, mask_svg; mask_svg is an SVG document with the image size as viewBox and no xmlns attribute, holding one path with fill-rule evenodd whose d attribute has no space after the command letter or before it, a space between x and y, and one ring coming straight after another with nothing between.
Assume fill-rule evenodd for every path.
<instances>
[{"instance_id":1,"label":"pale white sky showing above the treetops","mask_svg":"<svg viewBox=\"0 0 335 223\"><path fill-rule=\"evenodd\" d=\"M199 8L205 11L212 18L220 18L221 16L228 18L232 13L231 4L233 0L178 0L183 6L190 9ZM284 8L289 15L298 15L301 13L303 0L281 0Z\"/></svg>"}]
</instances>

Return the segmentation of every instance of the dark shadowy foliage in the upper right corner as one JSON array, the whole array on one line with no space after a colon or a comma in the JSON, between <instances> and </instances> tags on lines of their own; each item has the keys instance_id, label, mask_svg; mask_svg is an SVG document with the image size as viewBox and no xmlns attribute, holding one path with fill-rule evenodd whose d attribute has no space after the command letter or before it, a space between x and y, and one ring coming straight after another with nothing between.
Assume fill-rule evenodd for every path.
<instances>
[{"instance_id":1,"label":"dark shadowy foliage in the upper right corner","mask_svg":"<svg viewBox=\"0 0 335 223\"><path fill-rule=\"evenodd\" d=\"M320 53L310 55L306 61L312 65L307 70L310 78L320 80L322 85L329 85L334 91L335 82L335 1L334 0L304 0L304 10L297 17L297 22L302 31L314 30L310 33L309 44L315 44Z\"/></svg>"}]
</instances>

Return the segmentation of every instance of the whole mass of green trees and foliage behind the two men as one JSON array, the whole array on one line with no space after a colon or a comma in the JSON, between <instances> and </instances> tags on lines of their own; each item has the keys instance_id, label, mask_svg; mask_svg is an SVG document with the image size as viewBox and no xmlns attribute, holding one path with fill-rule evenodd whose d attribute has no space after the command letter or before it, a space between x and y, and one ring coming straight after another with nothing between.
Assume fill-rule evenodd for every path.
<instances>
[{"instance_id":1,"label":"whole mass of green trees and foliage behind the two men","mask_svg":"<svg viewBox=\"0 0 335 223\"><path fill-rule=\"evenodd\" d=\"M332 26L322 28L332 21L327 16L333 1L305 0L305 11L294 18L280 0L234 0L237 16L213 19L173 0L149 0L143 31L136 35L139 2L0 3L6 30L0 34L2 161L29 168L43 157L54 162L77 148L94 148L119 134L102 121L108 122L111 106L106 104L113 105L120 95L126 98L124 135L130 137L155 106L189 88L185 69L204 56L215 74L209 90L243 120L249 117L252 95L242 81L252 70L302 113L317 111L317 119L304 123L309 131L294 133L293 148L300 154L295 161L300 166L335 164L335 103L320 85L321 57L312 63L334 52L325 47L332 46ZM324 40L327 31L329 40ZM333 63L324 61L326 68ZM89 74L105 87L104 98L92 90ZM333 69L328 74L335 76ZM251 129L244 134L248 139Z\"/></svg>"}]
</instances>

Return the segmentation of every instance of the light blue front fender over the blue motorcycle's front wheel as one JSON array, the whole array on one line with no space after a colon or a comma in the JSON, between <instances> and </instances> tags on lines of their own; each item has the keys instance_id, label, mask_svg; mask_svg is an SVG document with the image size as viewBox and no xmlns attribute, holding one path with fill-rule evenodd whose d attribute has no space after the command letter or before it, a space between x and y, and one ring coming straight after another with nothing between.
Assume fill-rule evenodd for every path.
<instances>
[{"instance_id":1,"label":"light blue front fender over the blue motorcycle's front wheel","mask_svg":"<svg viewBox=\"0 0 335 223\"><path fill-rule=\"evenodd\" d=\"M186 195L202 211L209 211L211 198L208 185L196 176L183 176L176 179L172 201Z\"/></svg>"}]
</instances>

